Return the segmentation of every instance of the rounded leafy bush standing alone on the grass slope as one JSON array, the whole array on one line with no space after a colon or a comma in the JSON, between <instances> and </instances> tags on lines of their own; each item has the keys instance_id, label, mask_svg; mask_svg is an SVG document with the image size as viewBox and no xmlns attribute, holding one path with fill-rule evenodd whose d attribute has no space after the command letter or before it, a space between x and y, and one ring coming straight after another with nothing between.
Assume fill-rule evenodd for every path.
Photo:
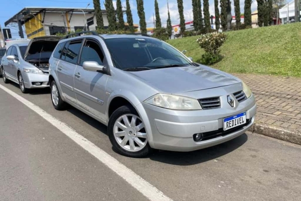
<instances>
[{"instance_id":1,"label":"rounded leafy bush standing alone on the grass slope","mask_svg":"<svg viewBox=\"0 0 301 201\"><path fill-rule=\"evenodd\" d=\"M205 35L201 35L197 42L200 47L205 50L205 54L202 55L202 64L213 64L222 59L219 48L226 41L227 35L225 33L213 32Z\"/></svg>"}]
</instances>

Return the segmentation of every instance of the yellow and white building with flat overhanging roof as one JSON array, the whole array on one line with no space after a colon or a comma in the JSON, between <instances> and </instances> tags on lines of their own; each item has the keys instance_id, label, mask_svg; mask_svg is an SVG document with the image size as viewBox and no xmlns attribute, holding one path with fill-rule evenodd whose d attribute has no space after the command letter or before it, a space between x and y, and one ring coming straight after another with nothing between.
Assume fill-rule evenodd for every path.
<instances>
[{"instance_id":1,"label":"yellow and white building with flat overhanging roof","mask_svg":"<svg viewBox=\"0 0 301 201\"><path fill-rule=\"evenodd\" d=\"M84 30L85 28L91 31L97 29L94 9L26 7L6 21L5 26L17 23L17 16L20 15L27 38ZM105 10L102 10L102 18L106 28L108 20Z\"/></svg>"}]
</instances>

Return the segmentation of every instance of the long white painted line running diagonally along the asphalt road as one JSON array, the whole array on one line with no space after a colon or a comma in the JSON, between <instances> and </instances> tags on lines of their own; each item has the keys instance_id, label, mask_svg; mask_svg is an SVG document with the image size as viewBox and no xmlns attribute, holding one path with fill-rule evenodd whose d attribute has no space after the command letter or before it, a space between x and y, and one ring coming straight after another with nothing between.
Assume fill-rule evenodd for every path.
<instances>
[{"instance_id":1,"label":"long white painted line running diagonally along the asphalt road","mask_svg":"<svg viewBox=\"0 0 301 201\"><path fill-rule=\"evenodd\" d=\"M26 105L28 108L36 112L38 115L43 117L46 121L50 124L55 126L59 129L62 133L66 136L71 138L74 142L76 142L79 146L83 149L88 151L90 154L95 156L98 160L104 163L108 168L113 170L116 174L118 174L121 178L123 178L126 182L128 182L131 186L136 188L139 192L141 192L145 197L152 201L173 201L171 198L166 196L163 192L161 192L158 188L153 186L152 184L145 181L131 169L127 168L125 165L121 164L115 158L107 154L105 151L94 145L92 142L84 138L83 136L79 135L76 131L72 128L67 126L65 123L57 120L52 115L48 114L40 107L36 106L35 104L31 103L29 100L25 99L24 97L18 95L17 93L13 92L12 90L8 89L7 87L0 84L0 88L14 96L18 99L21 103ZM50 98L50 97L49 97Z\"/></svg>"}]
</instances>

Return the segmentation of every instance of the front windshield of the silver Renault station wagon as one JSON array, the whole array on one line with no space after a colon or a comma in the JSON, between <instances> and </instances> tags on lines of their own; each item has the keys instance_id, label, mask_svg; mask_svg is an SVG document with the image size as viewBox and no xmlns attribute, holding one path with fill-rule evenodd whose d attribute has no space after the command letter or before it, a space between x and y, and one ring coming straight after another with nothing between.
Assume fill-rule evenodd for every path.
<instances>
[{"instance_id":1,"label":"front windshield of the silver Renault station wagon","mask_svg":"<svg viewBox=\"0 0 301 201\"><path fill-rule=\"evenodd\" d=\"M111 38L106 39L106 44L114 65L122 70L191 65L174 47L152 38Z\"/></svg>"}]
</instances>

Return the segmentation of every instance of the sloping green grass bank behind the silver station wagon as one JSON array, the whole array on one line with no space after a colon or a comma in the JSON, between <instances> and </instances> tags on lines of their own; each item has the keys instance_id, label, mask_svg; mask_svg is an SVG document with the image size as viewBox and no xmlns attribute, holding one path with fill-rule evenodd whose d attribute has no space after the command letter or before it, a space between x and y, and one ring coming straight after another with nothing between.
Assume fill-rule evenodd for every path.
<instances>
[{"instance_id":1,"label":"sloping green grass bank behind the silver station wagon","mask_svg":"<svg viewBox=\"0 0 301 201\"><path fill-rule=\"evenodd\" d=\"M301 23L231 31L221 47L224 59L212 67L238 73L301 77ZM168 43L199 62L198 36Z\"/></svg>"}]
</instances>

